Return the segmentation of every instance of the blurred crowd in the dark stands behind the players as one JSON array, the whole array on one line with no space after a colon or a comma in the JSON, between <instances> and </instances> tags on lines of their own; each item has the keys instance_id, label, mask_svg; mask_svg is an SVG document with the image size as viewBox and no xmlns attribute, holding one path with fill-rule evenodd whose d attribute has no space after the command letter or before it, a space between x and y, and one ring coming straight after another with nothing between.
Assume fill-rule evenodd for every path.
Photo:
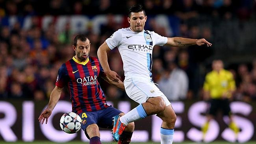
<instances>
[{"instance_id":1,"label":"blurred crowd in the dark stands behind the players","mask_svg":"<svg viewBox=\"0 0 256 144\"><path fill-rule=\"evenodd\" d=\"M74 36L85 33L91 40L89 55L96 57L100 44L113 32L129 27L127 10L136 3L144 6L148 16L145 30L166 37L205 38L213 43L212 47L154 47L153 80L169 100L202 100L204 76L216 58L223 59L225 68L234 74L237 90L233 100L256 100L256 59L250 52L256 45L254 0L0 0L0 98L47 100L59 67L74 56ZM74 31L67 20L59 30L54 20L43 26L42 17L48 15L55 19L62 15L93 19L100 15L106 20L96 30L97 21L89 20L82 25L85 31ZM29 17L30 23L10 22L13 16ZM246 29L250 24L252 29ZM241 35L241 31L249 33ZM109 52L109 65L124 80L117 48ZM99 81L107 100L129 99L125 92ZM67 90L61 99L69 99Z\"/></svg>"}]
</instances>

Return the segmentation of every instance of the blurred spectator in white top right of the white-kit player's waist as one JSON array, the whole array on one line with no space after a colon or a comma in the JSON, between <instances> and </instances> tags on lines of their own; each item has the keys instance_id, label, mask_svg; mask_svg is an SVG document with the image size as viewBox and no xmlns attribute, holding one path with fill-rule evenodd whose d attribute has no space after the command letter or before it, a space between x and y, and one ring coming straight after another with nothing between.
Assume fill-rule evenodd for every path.
<instances>
[{"instance_id":1,"label":"blurred spectator in white top right of the white-kit player's waist","mask_svg":"<svg viewBox=\"0 0 256 144\"><path fill-rule=\"evenodd\" d=\"M162 78L158 81L158 87L170 101L186 100L188 83L186 72L170 61Z\"/></svg>"}]
</instances>

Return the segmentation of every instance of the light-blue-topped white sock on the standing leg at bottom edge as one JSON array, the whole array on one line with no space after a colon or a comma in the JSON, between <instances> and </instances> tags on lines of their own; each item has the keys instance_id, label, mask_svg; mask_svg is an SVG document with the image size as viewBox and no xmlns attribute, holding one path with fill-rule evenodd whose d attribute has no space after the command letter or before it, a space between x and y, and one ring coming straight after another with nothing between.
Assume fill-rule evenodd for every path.
<instances>
[{"instance_id":1,"label":"light-blue-topped white sock on the standing leg at bottom edge","mask_svg":"<svg viewBox=\"0 0 256 144\"><path fill-rule=\"evenodd\" d=\"M174 129L160 128L161 144L173 144Z\"/></svg>"}]
</instances>

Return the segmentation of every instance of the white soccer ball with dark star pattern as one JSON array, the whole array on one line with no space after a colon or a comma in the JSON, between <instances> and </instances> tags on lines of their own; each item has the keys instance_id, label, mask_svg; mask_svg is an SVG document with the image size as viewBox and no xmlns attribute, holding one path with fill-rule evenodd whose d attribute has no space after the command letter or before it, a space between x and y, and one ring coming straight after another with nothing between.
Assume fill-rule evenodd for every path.
<instances>
[{"instance_id":1,"label":"white soccer ball with dark star pattern","mask_svg":"<svg viewBox=\"0 0 256 144\"><path fill-rule=\"evenodd\" d=\"M82 119L76 113L65 113L59 120L59 126L66 133L76 133L81 129Z\"/></svg>"}]
</instances>

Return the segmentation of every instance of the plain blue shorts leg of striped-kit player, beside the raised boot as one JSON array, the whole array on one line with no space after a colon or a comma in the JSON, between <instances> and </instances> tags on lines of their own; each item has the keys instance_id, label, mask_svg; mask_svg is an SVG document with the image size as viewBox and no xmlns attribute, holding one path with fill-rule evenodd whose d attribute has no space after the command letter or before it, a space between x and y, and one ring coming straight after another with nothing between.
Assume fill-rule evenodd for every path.
<instances>
[{"instance_id":1,"label":"plain blue shorts leg of striped-kit player, beside the raised boot","mask_svg":"<svg viewBox=\"0 0 256 144\"><path fill-rule=\"evenodd\" d=\"M114 107L107 107L106 109L103 109L98 117L98 126L102 128L112 128L113 117L120 113L122 113L122 111Z\"/></svg>"}]
</instances>

